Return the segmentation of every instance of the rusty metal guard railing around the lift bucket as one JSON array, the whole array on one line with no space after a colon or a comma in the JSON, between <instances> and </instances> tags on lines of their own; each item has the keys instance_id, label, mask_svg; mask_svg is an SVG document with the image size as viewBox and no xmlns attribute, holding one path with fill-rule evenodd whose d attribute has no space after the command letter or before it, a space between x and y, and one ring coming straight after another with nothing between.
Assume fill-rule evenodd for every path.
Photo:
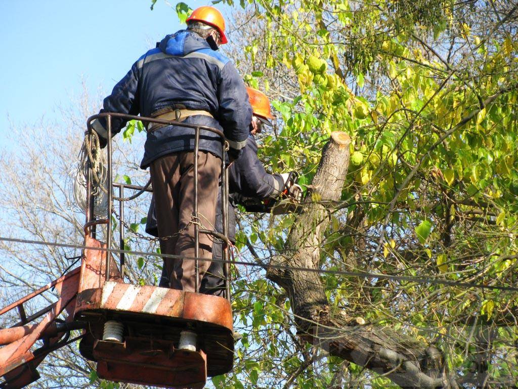
<instances>
[{"instance_id":1,"label":"rusty metal guard railing around the lift bucket","mask_svg":"<svg viewBox=\"0 0 518 389\"><path fill-rule=\"evenodd\" d=\"M93 115L88 118L87 120L87 128L88 128L88 135L89 135L89 143L91 145L91 135L92 135L92 121L98 118L106 118L106 131L107 131L107 182L108 182L108 216L106 219L96 219L94 216L94 196L92 195L92 170L90 161L88 163L87 168L87 199L88 199L88 209L85 210L86 212L86 221L84 224L84 232L85 235L95 238L95 232L96 232L96 226L106 224L106 247L108 249L111 248L111 213L113 210L113 187L116 186L119 188L119 198L122 199L124 197L124 189L131 189L131 190L141 190L141 191L148 191L152 192L152 189L137 186L137 185L128 185L128 184L122 184L122 183L113 183L112 179L112 144L111 144L111 118L112 117L118 117L123 118L127 120L140 120L142 122L146 123L157 123L157 124L165 124L168 126L178 126L178 127L184 127L184 128L190 128L194 130L194 200L193 200L193 218L194 220L198 220L198 152L199 152L199 133L200 130L210 131L213 132L220 137L221 145L222 145L222 156L221 156L221 185L222 185L222 196L221 196L221 215L222 215L222 222L223 222L223 233L218 233L215 231L211 231L208 229L202 229L199 228L199 225L197 223L194 223L194 271L195 271L195 291L196 293L199 293L199 234L205 233L212 235L212 237L220 239L223 241L223 277L224 277L224 284L225 284L225 297L227 300L230 301L230 282L231 282L231 275L229 271L229 240L228 240L228 166L225 163L225 136L224 134L215 128L208 127L208 126L200 126L198 124L190 124L190 123L184 123L179 122L176 120L163 120L163 119L157 119L157 118L149 118L149 117L142 117L142 116L134 116L134 115L125 115L125 114L119 114L119 113L110 113L105 112L102 114ZM218 189L219 190L219 189ZM123 249L124 248L124 204L123 201L119 201L119 213L120 213L120 219L119 219L119 242L120 246ZM106 280L109 280L110 274L110 252L106 252ZM120 254L120 272L122 277L124 277L124 270L125 270L125 257L124 253Z\"/></svg>"}]
</instances>

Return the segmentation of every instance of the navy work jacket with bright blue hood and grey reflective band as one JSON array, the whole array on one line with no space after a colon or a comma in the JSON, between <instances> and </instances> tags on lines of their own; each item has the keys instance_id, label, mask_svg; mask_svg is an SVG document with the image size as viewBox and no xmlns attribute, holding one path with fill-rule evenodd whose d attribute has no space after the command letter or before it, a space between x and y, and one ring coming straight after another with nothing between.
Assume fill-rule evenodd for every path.
<instances>
[{"instance_id":1,"label":"navy work jacket with bright blue hood and grey reflective band","mask_svg":"<svg viewBox=\"0 0 518 389\"><path fill-rule=\"evenodd\" d=\"M246 87L228 58L212 50L198 34L187 30L167 35L158 47L142 55L104 99L100 113L153 116L159 111L177 108L211 113L213 118L196 115L185 118L184 122L222 131L233 157L240 154L252 119ZM126 122L112 117L112 136L120 132ZM105 118L94 121L92 127L106 140ZM203 130L200 134L199 149L221 158L219 136ZM193 129L165 126L148 131L140 167L145 169L164 155L193 149Z\"/></svg>"}]
</instances>

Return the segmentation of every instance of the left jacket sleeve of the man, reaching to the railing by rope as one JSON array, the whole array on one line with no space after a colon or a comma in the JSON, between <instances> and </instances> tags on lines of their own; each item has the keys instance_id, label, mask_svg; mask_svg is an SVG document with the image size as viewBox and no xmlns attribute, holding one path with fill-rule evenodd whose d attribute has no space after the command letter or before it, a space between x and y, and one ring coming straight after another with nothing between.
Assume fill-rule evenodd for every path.
<instances>
[{"instance_id":1,"label":"left jacket sleeve of the man, reaching to the railing by rope","mask_svg":"<svg viewBox=\"0 0 518 389\"><path fill-rule=\"evenodd\" d=\"M140 112L140 104L138 99L138 67L135 62L131 70L120 80L111 94L104 99L103 108L99 111L118 112L121 114L138 115ZM126 126L127 119L111 118L111 135L115 135ZM106 142L108 138L106 118L99 118L92 122L92 127L99 137Z\"/></svg>"}]
</instances>

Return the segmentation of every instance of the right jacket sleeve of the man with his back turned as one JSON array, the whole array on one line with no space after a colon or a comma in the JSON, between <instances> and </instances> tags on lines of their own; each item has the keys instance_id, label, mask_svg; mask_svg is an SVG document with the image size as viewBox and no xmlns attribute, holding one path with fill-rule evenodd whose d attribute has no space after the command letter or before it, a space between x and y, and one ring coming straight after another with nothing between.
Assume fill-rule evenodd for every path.
<instances>
[{"instance_id":1,"label":"right jacket sleeve of the man with his back turned","mask_svg":"<svg viewBox=\"0 0 518 389\"><path fill-rule=\"evenodd\" d=\"M218 118L228 145L240 150L247 142L252 107L244 82L231 62L227 62L220 73L218 102Z\"/></svg>"}]
</instances>

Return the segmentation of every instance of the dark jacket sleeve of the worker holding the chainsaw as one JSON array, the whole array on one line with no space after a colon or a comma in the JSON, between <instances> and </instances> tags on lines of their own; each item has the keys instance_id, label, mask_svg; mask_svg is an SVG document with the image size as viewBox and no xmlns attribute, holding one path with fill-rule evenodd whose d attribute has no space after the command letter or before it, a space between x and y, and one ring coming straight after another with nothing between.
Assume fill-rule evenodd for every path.
<instances>
[{"instance_id":1,"label":"dark jacket sleeve of the worker holding the chainsaw","mask_svg":"<svg viewBox=\"0 0 518 389\"><path fill-rule=\"evenodd\" d=\"M257 145L252 137L238 160L230 167L229 181L232 191L244 197L266 199L282 192L284 181L280 174L268 174L257 157Z\"/></svg>"}]
</instances>

